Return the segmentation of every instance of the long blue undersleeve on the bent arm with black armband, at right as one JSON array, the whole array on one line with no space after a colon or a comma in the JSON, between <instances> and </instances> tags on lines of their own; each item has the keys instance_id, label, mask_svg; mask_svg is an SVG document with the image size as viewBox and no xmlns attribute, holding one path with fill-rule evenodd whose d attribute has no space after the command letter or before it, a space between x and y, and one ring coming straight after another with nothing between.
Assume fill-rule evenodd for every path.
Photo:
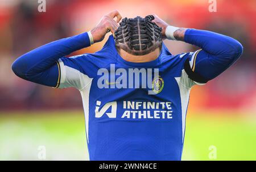
<instances>
[{"instance_id":1,"label":"long blue undersleeve on the bent arm with black armband, at right","mask_svg":"<svg viewBox=\"0 0 256 172\"><path fill-rule=\"evenodd\" d=\"M234 38L210 31L187 29L184 41L199 46L191 58L191 69L205 80L216 78L240 57L243 47Z\"/></svg>"}]
</instances>

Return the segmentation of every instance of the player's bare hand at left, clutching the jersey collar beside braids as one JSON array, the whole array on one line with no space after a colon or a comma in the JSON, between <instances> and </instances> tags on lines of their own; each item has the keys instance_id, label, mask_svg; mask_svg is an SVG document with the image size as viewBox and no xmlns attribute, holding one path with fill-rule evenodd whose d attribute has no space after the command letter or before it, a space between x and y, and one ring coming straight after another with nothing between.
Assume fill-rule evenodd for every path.
<instances>
[{"instance_id":1,"label":"player's bare hand at left, clutching the jersey collar beside braids","mask_svg":"<svg viewBox=\"0 0 256 172\"><path fill-rule=\"evenodd\" d=\"M117 20L114 20L114 18L117 18ZM119 26L119 21L122 19L121 14L119 13L118 10L114 10L110 12L107 15L104 15L100 23L96 25L90 32L92 33L93 36L93 42L100 42L104 39L106 33L109 31L112 32L114 35L115 30Z\"/></svg>"}]
</instances>

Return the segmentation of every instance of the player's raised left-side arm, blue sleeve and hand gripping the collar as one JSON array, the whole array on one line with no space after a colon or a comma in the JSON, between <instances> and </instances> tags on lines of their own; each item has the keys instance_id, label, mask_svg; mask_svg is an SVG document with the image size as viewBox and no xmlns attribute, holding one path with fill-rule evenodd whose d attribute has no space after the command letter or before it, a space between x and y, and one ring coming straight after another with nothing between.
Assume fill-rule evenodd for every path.
<instances>
[{"instance_id":1,"label":"player's raised left-side arm, blue sleeve and hand gripping the collar","mask_svg":"<svg viewBox=\"0 0 256 172\"><path fill-rule=\"evenodd\" d=\"M115 17L117 18L116 21L114 20ZM102 41L107 32L114 33L118 27L117 22L121 19L122 16L119 12L114 10L105 15L90 32L63 38L23 54L15 60L12 69L20 78L50 87L58 87L61 73L58 60L73 51L86 48L94 42ZM73 63L79 67L79 64ZM68 76L68 74L65 76ZM72 76L72 78L68 78L69 83L76 83L75 80L79 79L75 74L69 76ZM72 86L75 85L65 84L65 87Z\"/></svg>"}]
</instances>

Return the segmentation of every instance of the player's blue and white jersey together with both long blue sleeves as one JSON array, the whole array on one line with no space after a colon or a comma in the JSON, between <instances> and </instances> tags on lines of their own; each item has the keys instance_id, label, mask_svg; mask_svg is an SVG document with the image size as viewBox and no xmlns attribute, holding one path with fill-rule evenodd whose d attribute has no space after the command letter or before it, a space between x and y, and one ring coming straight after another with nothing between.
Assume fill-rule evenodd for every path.
<instances>
[{"instance_id":1,"label":"player's blue and white jersey together with both long blue sleeves","mask_svg":"<svg viewBox=\"0 0 256 172\"><path fill-rule=\"evenodd\" d=\"M185 42L201 49L172 55L163 44L154 61L132 63L119 56L110 36L96 53L65 57L90 46L88 33L82 33L32 50L16 59L12 68L20 78L80 91L90 160L181 160L189 92L200 84L185 72L185 61L189 59L191 70L210 80L242 54L238 41L213 32L188 29ZM111 75L118 78L118 69L136 68L147 75L159 70L152 88L117 88L122 82ZM98 85L103 74L109 76L109 88ZM142 86L142 78L127 85L136 81ZM152 89L157 92L148 94Z\"/></svg>"}]
</instances>

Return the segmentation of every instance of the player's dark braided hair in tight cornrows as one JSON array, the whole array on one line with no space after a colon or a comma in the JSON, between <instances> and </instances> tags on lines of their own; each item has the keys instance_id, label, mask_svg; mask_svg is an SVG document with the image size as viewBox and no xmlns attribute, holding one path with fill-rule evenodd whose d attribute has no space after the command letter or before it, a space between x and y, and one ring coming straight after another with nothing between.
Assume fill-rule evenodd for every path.
<instances>
[{"instance_id":1,"label":"player's dark braided hair in tight cornrows","mask_svg":"<svg viewBox=\"0 0 256 172\"><path fill-rule=\"evenodd\" d=\"M156 48L162 48L162 28L158 27L152 20L153 15L145 18L122 19L118 29L115 31L115 46L129 54L145 55Z\"/></svg>"}]
</instances>

